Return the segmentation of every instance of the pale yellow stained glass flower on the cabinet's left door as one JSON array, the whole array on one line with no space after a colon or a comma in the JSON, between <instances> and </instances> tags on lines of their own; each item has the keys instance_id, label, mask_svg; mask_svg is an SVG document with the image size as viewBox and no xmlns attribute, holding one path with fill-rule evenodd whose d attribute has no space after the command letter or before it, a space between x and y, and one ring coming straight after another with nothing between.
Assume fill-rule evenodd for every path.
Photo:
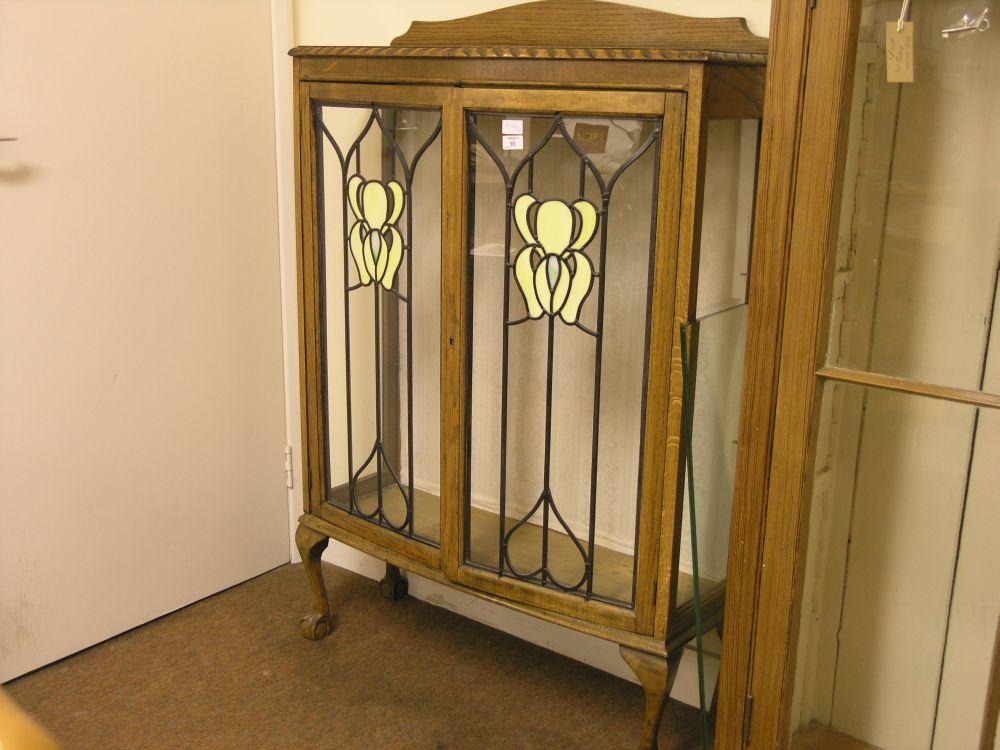
<instances>
[{"instance_id":1,"label":"pale yellow stained glass flower on the cabinet's left door","mask_svg":"<svg viewBox=\"0 0 1000 750\"><path fill-rule=\"evenodd\" d=\"M357 218L348 244L358 280L364 286L375 283L392 289L403 260L403 238L396 228L405 203L403 186L356 174L347 181L347 199Z\"/></svg>"}]
</instances>

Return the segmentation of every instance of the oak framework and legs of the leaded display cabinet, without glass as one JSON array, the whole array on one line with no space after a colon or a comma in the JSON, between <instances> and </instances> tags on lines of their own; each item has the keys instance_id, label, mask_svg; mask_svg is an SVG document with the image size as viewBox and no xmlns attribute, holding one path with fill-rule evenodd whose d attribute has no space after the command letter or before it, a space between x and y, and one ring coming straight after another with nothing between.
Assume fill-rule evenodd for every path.
<instances>
[{"instance_id":1,"label":"oak framework and legs of the leaded display cabinet, without glass","mask_svg":"<svg viewBox=\"0 0 1000 750\"><path fill-rule=\"evenodd\" d=\"M469 19L415 23L390 47L301 47L296 80L299 333L305 513L296 540L314 594L303 621L310 638L330 629L319 559L337 539L397 568L511 609L620 644L643 683L643 747L655 747L660 711L681 647L693 636L693 608L676 606L684 383L680 325L694 313L707 124L710 118L760 118L766 40L741 19L691 19L592 0L545 0ZM376 102L439 108L441 163L441 497L440 547L387 533L329 507L322 325L317 237L317 179L312 108L316 101ZM652 115L661 119L656 185L653 294L645 399L642 502L633 608L561 594L464 565L466 477L466 127L465 110ZM765 144L766 146L766 140ZM461 176L460 179L455 179ZM758 211L760 216L760 211ZM759 246L759 241L757 245ZM755 256L757 255L755 250ZM764 255L767 270L766 253ZM769 277L751 282L747 370L737 487L759 471L753 443L770 419L773 393L759 368L774 352L766 301ZM760 280L756 277L760 276ZM756 290L756 291L755 291ZM755 297L756 295L756 297ZM754 300L757 300L755 302ZM762 312L763 311L763 312ZM755 367L757 369L755 369ZM737 500L739 502L739 500ZM736 531L734 530L734 534ZM733 537L736 539L736 537ZM732 563L731 563L732 565ZM731 568L732 569L732 568ZM731 574L732 583L732 574ZM722 619L726 587L705 592L705 627Z\"/></svg>"}]
</instances>

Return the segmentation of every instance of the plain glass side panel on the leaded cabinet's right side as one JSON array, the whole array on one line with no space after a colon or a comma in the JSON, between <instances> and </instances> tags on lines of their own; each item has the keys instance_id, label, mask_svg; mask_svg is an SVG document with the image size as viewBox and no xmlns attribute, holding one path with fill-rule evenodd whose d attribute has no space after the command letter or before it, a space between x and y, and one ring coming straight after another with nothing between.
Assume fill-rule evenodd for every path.
<instances>
[{"instance_id":1,"label":"plain glass side panel on the leaded cabinet's right side","mask_svg":"<svg viewBox=\"0 0 1000 750\"><path fill-rule=\"evenodd\" d=\"M708 123L693 339L692 420L698 572L704 599L725 585L736 485L750 281L758 120ZM694 595L691 518L684 485L677 603Z\"/></svg>"}]
</instances>

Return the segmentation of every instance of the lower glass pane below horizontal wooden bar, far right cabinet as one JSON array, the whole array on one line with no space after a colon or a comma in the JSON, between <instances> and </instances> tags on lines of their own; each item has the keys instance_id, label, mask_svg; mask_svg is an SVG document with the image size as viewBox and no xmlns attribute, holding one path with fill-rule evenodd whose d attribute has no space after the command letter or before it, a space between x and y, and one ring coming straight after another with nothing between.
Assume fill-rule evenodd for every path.
<instances>
[{"instance_id":1,"label":"lower glass pane below horizontal wooden bar, far right cabinet","mask_svg":"<svg viewBox=\"0 0 1000 750\"><path fill-rule=\"evenodd\" d=\"M998 450L995 410L826 385L793 729L977 746L1000 614Z\"/></svg>"}]
</instances>

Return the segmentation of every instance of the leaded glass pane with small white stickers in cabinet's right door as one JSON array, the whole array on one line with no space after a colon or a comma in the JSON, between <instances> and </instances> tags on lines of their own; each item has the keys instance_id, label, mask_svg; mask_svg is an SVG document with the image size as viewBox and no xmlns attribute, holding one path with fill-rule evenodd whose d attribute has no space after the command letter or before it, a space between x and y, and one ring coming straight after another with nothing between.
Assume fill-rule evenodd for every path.
<instances>
[{"instance_id":1,"label":"leaded glass pane with small white stickers in cabinet's right door","mask_svg":"<svg viewBox=\"0 0 1000 750\"><path fill-rule=\"evenodd\" d=\"M659 140L654 119L469 116L466 557L623 605Z\"/></svg>"}]
</instances>

